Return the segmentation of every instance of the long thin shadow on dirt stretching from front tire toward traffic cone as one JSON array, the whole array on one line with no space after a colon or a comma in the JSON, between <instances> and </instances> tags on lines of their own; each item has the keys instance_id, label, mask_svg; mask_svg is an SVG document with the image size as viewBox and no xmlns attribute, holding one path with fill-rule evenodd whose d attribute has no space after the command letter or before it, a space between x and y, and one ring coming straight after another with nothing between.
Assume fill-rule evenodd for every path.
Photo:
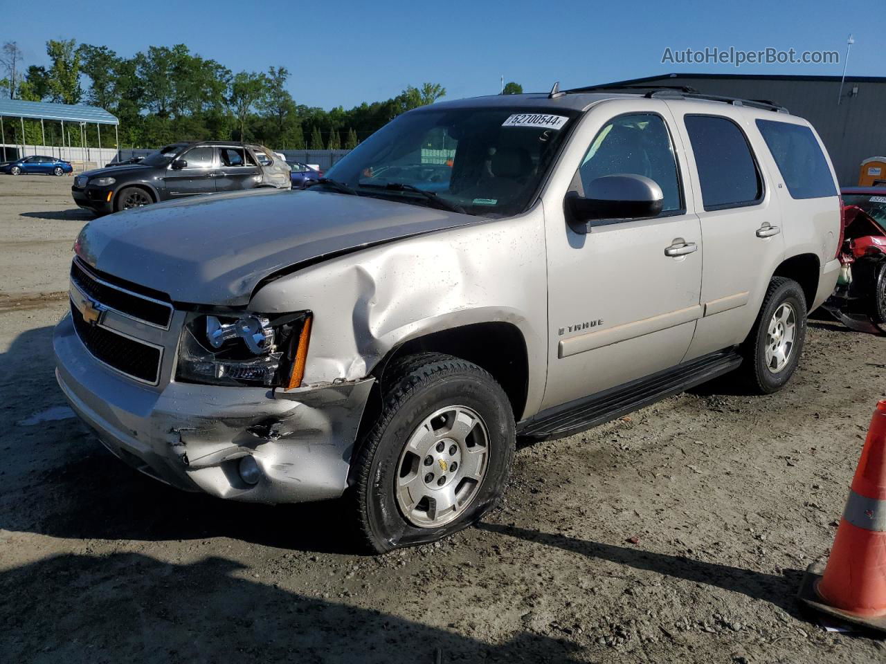
<instances>
[{"instance_id":1,"label":"long thin shadow on dirt stretching from front tire toward traffic cone","mask_svg":"<svg viewBox=\"0 0 886 664\"><path fill-rule=\"evenodd\" d=\"M772 575L741 567L692 560L684 556L641 551L614 544L587 542L577 537L545 533L516 526L481 522L477 527L481 530L517 537L527 542L555 546L563 551L579 553L590 559L609 560L625 567L685 579L693 583L717 586L727 591L740 592L750 598L762 599L779 606L789 614L795 616L798 614L795 597L803 578L803 572L799 569L784 569L782 575Z\"/></svg>"}]
</instances>

